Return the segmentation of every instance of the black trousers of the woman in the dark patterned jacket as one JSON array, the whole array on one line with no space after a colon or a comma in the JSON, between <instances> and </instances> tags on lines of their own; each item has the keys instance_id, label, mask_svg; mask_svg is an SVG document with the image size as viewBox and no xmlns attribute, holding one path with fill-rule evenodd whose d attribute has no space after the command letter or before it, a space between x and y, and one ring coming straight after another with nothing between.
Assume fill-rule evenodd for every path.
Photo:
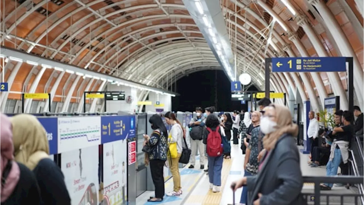
<instances>
[{"instance_id":1,"label":"black trousers of the woman in the dark patterned jacket","mask_svg":"<svg viewBox=\"0 0 364 205\"><path fill-rule=\"evenodd\" d=\"M164 178L163 178L163 166L165 161L160 159L150 160L150 173L155 188L155 198L162 198L164 196Z\"/></svg>"}]
</instances>

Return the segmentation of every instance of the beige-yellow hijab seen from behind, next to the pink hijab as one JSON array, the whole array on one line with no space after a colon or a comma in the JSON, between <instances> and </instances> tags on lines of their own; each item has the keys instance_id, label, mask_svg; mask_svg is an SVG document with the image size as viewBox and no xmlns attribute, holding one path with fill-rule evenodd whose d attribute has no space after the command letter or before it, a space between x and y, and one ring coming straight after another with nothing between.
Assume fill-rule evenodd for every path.
<instances>
[{"instance_id":1,"label":"beige-yellow hijab seen from behind, next to the pink hijab","mask_svg":"<svg viewBox=\"0 0 364 205\"><path fill-rule=\"evenodd\" d=\"M13 116L11 123L15 160L33 170L41 159L49 156L47 132L33 115Z\"/></svg>"}]
</instances>

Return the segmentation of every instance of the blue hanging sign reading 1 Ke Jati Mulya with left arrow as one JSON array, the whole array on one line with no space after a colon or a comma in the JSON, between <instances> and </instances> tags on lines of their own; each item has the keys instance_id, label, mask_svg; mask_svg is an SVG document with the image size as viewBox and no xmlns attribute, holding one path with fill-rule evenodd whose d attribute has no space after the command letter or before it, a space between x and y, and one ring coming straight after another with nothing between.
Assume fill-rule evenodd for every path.
<instances>
[{"instance_id":1,"label":"blue hanging sign reading 1 Ke Jati Mulya with left arrow","mask_svg":"<svg viewBox=\"0 0 364 205\"><path fill-rule=\"evenodd\" d=\"M272 58L272 72L342 72L345 57Z\"/></svg>"}]
</instances>

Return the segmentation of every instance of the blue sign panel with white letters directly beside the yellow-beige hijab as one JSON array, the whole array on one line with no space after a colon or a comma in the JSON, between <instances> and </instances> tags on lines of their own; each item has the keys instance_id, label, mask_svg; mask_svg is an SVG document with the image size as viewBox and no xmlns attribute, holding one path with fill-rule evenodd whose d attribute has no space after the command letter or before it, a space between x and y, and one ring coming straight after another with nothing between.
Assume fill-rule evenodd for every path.
<instances>
[{"instance_id":1,"label":"blue sign panel with white letters directly beside the yellow-beige hijab","mask_svg":"<svg viewBox=\"0 0 364 205\"><path fill-rule=\"evenodd\" d=\"M46 129L50 154L58 154L58 119L56 117L39 117L38 120Z\"/></svg>"}]
</instances>

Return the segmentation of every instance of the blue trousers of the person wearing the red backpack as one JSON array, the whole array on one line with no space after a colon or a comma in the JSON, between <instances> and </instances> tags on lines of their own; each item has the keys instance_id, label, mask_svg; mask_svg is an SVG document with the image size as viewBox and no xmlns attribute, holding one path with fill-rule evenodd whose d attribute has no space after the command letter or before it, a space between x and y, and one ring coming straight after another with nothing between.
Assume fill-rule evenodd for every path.
<instances>
[{"instance_id":1,"label":"blue trousers of the person wearing the red backpack","mask_svg":"<svg viewBox=\"0 0 364 205\"><path fill-rule=\"evenodd\" d=\"M221 170L224 156L207 156L209 162L209 181L215 186L221 186Z\"/></svg>"}]
</instances>

